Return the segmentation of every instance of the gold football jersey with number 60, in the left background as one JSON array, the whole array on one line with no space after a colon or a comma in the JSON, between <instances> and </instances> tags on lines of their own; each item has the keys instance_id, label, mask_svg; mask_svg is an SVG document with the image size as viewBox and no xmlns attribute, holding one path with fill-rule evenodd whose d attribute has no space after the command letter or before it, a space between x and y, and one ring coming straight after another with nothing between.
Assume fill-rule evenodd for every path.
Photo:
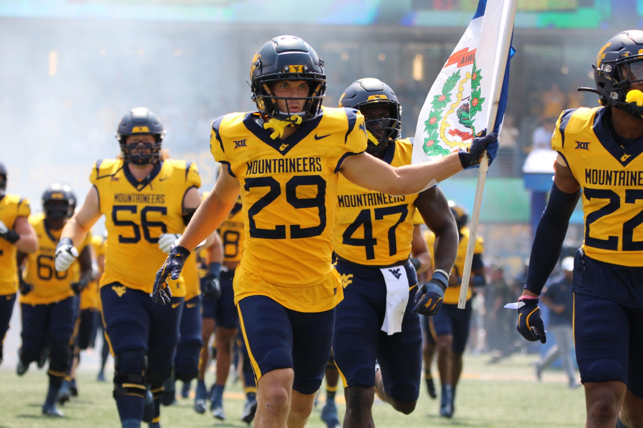
<instances>
[{"instance_id":1,"label":"gold football jersey with number 60, in the left background","mask_svg":"<svg viewBox=\"0 0 643 428\"><path fill-rule=\"evenodd\" d=\"M33 290L28 295L20 295L20 303L46 305L73 296L73 271L69 268L64 272L58 272L53 265L53 256L62 228L49 230L45 225L44 216L32 216L29 223L36 231L38 250L27 256L23 278L24 282L33 286Z\"/></svg>"}]
</instances>

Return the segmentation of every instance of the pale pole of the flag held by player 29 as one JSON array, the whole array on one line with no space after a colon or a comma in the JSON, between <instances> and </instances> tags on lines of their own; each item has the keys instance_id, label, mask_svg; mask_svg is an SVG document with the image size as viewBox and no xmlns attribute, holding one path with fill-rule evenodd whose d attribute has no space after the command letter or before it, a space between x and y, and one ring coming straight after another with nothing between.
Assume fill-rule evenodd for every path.
<instances>
[{"instance_id":1,"label":"pale pole of the flag held by player 29","mask_svg":"<svg viewBox=\"0 0 643 428\"><path fill-rule=\"evenodd\" d=\"M493 131L496 123L496 114L498 113L498 104L500 103L500 94L502 93L502 81L505 77L505 69L509 60L509 49L511 47L511 35L514 30L514 21L516 19L516 6L518 0L504 0L503 8L503 34L500 39L498 56L496 56L496 81L494 81L493 104L489 112L489 121L487 121L487 133ZM473 262L473 249L475 248L476 235L478 233L478 219L480 219L480 205L482 205L482 193L484 192L484 183L487 178L487 168L489 167L489 157L485 151L480 161L478 170L478 184L476 185L476 196L473 202L473 212L471 213L471 228L469 230L469 242L467 243L467 254L464 259L464 270L462 271L462 283L460 285L460 298L458 298L458 309L464 309L467 304L467 293L469 293L469 278L471 277L471 263Z\"/></svg>"}]
</instances>

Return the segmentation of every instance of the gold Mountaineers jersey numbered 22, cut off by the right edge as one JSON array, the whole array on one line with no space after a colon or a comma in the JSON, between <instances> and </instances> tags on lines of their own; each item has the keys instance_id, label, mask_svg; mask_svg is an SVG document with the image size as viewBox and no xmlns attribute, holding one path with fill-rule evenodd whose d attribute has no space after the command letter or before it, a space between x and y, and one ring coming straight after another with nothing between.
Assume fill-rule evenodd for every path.
<instances>
[{"instance_id":1,"label":"gold Mountaineers jersey numbered 22, cut off by the right edge","mask_svg":"<svg viewBox=\"0 0 643 428\"><path fill-rule=\"evenodd\" d=\"M623 148L603 123L604 107L565 110L552 148L583 188L585 239L592 259L643 266L643 156L640 143Z\"/></svg>"}]
</instances>

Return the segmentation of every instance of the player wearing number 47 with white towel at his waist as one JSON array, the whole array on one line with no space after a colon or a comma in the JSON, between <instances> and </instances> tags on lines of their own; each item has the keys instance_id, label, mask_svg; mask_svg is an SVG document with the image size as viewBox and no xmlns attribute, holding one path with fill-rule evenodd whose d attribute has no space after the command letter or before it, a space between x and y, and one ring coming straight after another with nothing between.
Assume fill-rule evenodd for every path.
<instances>
[{"instance_id":1,"label":"player wearing number 47 with white towel at his waist","mask_svg":"<svg viewBox=\"0 0 643 428\"><path fill-rule=\"evenodd\" d=\"M411 163L413 139L400 138L402 108L388 85L374 78L354 81L340 107L363 114L367 153L394 167ZM408 415L415 409L422 375L422 332L415 312L439 311L435 298L444 295L458 244L455 221L439 187L398 197L368 187L340 176L333 232L344 300L335 309L332 354L344 384L344 425L349 427L374 426L373 386L395 410ZM416 266L428 269L430 257L419 226L413 226L416 207L439 243L437 268L423 291L417 287ZM410 260L412 254L416 258ZM423 295L427 287L437 293L424 307L415 295Z\"/></svg>"}]
</instances>

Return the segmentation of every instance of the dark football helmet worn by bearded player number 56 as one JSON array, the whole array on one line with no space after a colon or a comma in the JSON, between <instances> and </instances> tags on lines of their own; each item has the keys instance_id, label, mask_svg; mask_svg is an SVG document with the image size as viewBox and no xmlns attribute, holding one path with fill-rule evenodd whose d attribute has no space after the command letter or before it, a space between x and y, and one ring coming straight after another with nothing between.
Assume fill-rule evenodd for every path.
<instances>
[{"instance_id":1,"label":"dark football helmet worn by bearded player number 56","mask_svg":"<svg viewBox=\"0 0 643 428\"><path fill-rule=\"evenodd\" d=\"M126 144L130 135L153 135L154 144ZM161 141L165 130L158 117L145 107L132 108L118 124L116 139L121 146L123 160L135 165L147 165L161 158Z\"/></svg>"}]
</instances>

